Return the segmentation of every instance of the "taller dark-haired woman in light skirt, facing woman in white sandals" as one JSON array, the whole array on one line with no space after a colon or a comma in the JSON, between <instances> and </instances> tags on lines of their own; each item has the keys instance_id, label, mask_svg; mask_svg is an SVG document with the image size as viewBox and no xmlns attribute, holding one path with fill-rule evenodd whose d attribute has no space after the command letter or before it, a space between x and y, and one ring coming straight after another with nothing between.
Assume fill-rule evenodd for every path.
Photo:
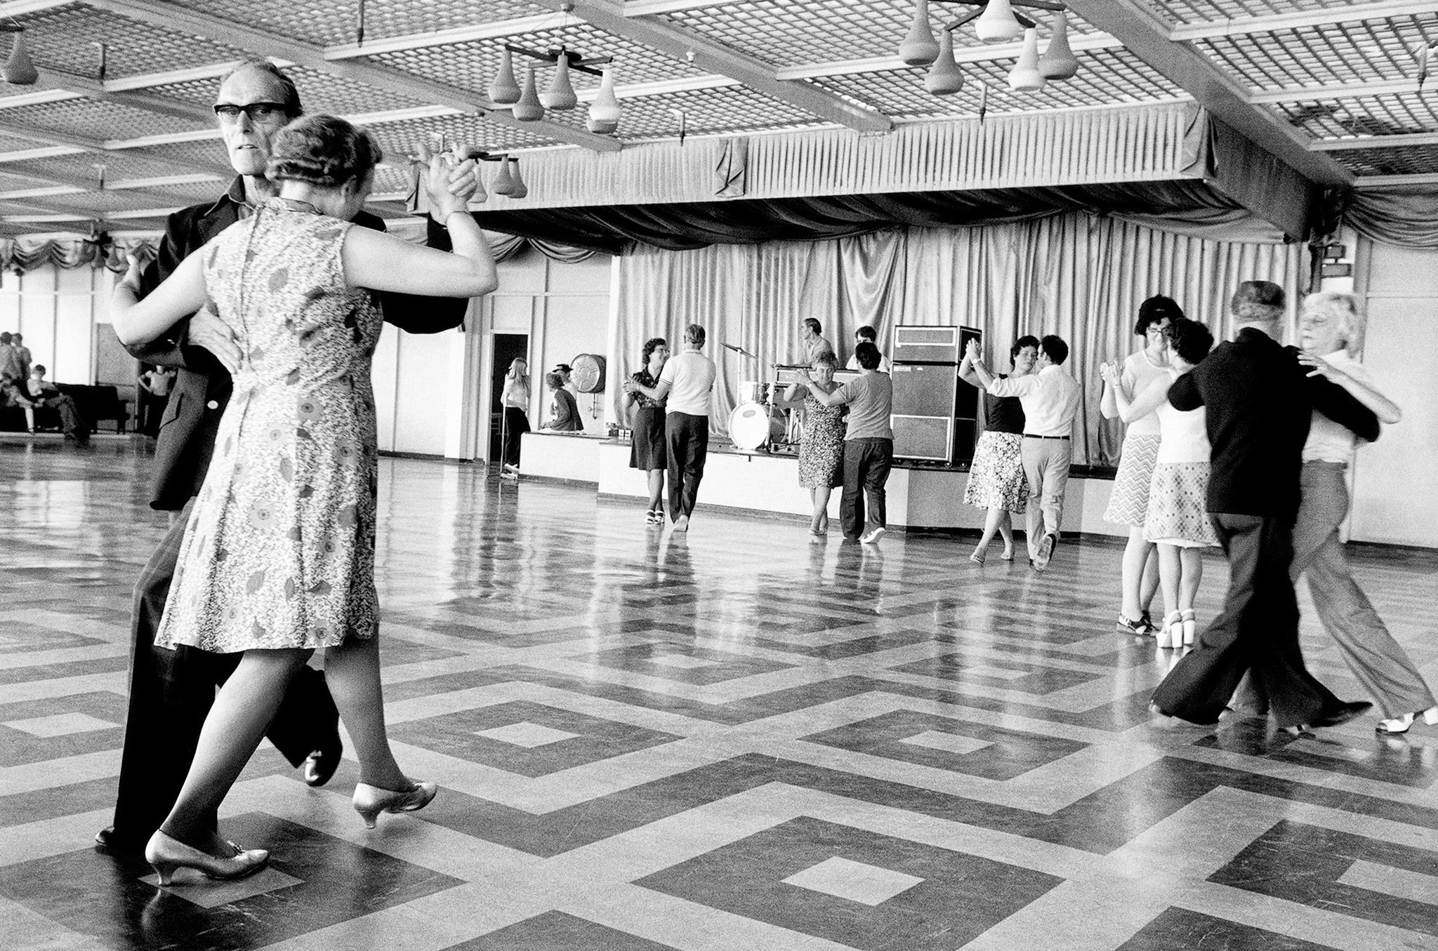
<instances>
[{"instance_id":1,"label":"taller dark-haired woman in light skirt, facing woman in white sandals","mask_svg":"<svg viewBox=\"0 0 1438 951\"><path fill-rule=\"evenodd\" d=\"M1119 415L1116 396L1133 399L1148 389L1149 384L1166 375L1168 340L1163 329L1183 316L1183 310L1162 294L1149 297L1139 305L1139 319L1133 333L1143 338L1143 349L1130 353L1123 361L1123 369L1116 368L1113 381L1104 375L1103 399L1099 404L1106 419ZM1103 368L1100 366L1100 374ZM1123 603L1119 609L1119 631L1125 634L1149 635L1155 632L1149 621L1149 603L1158 590L1158 570L1149 555L1153 546L1143 539L1143 514L1149 507L1149 478L1153 476L1153 461L1159 451L1159 421L1152 412L1135 417L1123 434L1119 450L1119 473L1113 480L1109 509L1104 521L1129 526L1129 543L1123 549L1122 589Z\"/></svg>"}]
</instances>

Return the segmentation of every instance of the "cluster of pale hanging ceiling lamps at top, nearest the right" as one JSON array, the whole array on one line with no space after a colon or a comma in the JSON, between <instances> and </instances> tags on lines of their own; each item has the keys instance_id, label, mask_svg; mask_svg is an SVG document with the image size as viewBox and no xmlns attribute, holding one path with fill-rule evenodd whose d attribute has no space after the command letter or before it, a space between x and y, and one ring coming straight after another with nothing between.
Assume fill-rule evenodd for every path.
<instances>
[{"instance_id":1,"label":"cluster of pale hanging ceiling lamps at top, nearest the right","mask_svg":"<svg viewBox=\"0 0 1438 951\"><path fill-rule=\"evenodd\" d=\"M1043 89L1050 79L1071 79L1078 60L1068 47L1068 17L1061 3L1050 0L938 0L982 7L939 30L933 39L929 24L929 0L915 0L913 26L899 45L899 57L909 66L929 66L923 88L936 96L953 95L963 88L963 73L953 59L953 30L974 22L975 34L985 43L1008 43L1024 37L1024 49L1008 73L1008 88L1020 92ZM1038 55L1038 24L1014 13L1014 6L1054 10L1054 36L1044 55Z\"/></svg>"}]
</instances>

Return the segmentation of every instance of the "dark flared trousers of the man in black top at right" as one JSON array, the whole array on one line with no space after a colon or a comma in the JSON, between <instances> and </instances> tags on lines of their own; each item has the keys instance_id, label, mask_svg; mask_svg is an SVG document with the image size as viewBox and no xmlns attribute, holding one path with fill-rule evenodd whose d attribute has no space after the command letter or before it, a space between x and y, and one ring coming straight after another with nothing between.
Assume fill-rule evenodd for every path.
<instances>
[{"instance_id":1,"label":"dark flared trousers of the man in black top at right","mask_svg":"<svg viewBox=\"0 0 1438 951\"><path fill-rule=\"evenodd\" d=\"M1228 556L1224 611L1153 691L1165 714L1191 723L1217 723L1245 671L1267 697L1280 727L1316 723L1334 713L1339 698L1303 665L1299 600L1288 577L1293 524L1283 519L1211 514Z\"/></svg>"}]
</instances>

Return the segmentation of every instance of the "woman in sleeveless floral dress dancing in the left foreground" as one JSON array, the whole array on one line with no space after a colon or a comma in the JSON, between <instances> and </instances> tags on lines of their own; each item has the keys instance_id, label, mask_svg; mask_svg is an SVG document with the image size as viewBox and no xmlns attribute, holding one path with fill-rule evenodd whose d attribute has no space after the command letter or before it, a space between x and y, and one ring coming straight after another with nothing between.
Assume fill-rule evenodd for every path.
<instances>
[{"instance_id":1,"label":"woman in sleeveless floral dress dancing in the left foreground","mask_svg":"<svg viewBox=\"0 0 1438 951\"><path fill-rule=\"evenodd\" d=\"M187 257L137 302L138 267L116 286L115 332L152 340L213 299L240 365L214 461L194 501L155 644L243 652L220 688L174 809L145 846L177 868L240 878L263 868L217 827L221 800L316 648L360 759L354 807L426 806L433 783L398 767L384 727L374 583L377 445L370 362L378 290L470 297L496 286L485 237L450 168L430 161L431 214L454 253L349 223L374 185L380 145L334 116L301 118L270 142L279 197Z\"/></svg>"}]
</instances>

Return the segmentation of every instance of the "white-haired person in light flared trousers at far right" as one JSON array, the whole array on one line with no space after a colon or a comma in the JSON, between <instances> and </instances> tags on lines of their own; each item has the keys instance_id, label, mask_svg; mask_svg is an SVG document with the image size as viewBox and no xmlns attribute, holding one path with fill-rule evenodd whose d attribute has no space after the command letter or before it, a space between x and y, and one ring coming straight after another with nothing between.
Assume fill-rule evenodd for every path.
<instances>
[{"instance_id":1,"label":"white-haired person in light flared trousers at far right","mask_svg":"<svg viewBox=\"0 0 1438 951\"><path fill-rule=\"evenodd\" d=\"M1353 359L1363 342L1362 330L1357 297L1309 294L1299 317L1299 359L1353 394L1380 422L1398 422L1402 411ZM1438 724L1438 700L1353 580L1343 555L1339 526L1349 509L1347 467L1356 445L1350 430L1314 411L1303 445L1303 501L1293 527L1291 575L1294 580L1307 576L1323 628L1383 710L1378 731L1406 733L1418 717Z\"/></svg>"}]
</instances>

